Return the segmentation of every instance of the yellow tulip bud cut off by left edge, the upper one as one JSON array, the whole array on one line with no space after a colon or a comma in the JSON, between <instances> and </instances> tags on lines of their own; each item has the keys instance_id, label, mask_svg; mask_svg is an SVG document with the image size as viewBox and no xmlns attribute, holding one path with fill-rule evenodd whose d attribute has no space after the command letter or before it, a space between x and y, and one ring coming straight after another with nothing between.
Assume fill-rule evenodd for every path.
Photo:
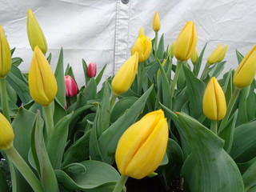
<instances>
[{"instance_id":1,"label":"yellow tulip bud cut off by left edge, the upper one","mask_svg":"<svg viewBox=\"0 0 256 192\"><path fill-rule=\"evenodd\" d=\"M6 77L11 68L10 46L5 31L0 26L0 78Z\"/></svg>"}]
</instances>

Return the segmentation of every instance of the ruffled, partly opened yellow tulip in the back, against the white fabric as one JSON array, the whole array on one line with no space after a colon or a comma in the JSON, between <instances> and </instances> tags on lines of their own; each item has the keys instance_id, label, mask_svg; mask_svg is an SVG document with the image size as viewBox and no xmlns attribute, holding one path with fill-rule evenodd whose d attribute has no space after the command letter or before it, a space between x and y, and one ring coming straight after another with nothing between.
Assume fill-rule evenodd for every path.
<instances>
[{"instance_id":1,"label":"ruffled, partly opened yellow tulip in the back, against the white fabric","mask_svg":"<svg viewBox=\"0 0 256 192\"><path fill-rule=\"evenodd\" d=\"M145 62L147 58L150 57L150 53L152 50L151 39L147 38L145 35L140 35L134 46L131 48L131 55L138 52L138 62Z\"/></svg>"}]
</instances>

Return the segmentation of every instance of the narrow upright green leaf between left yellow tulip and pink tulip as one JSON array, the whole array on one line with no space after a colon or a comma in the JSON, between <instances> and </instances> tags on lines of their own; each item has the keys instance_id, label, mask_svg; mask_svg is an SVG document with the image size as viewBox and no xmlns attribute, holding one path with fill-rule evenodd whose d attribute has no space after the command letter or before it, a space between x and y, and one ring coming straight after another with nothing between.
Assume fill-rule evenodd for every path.
<instances>
[{"instance_id":1,"label":"narrow upright green leaf between left yellow tulip and pink tulip","mask_svg":"<svg viewBox=\"0 0 256 192\"><path fill-rule=\"evenodd\" d=\"M63 49L61 49L59 56L58 56L58 63L55 69L55 78L58 85L58 91L56 94L56 98L58 98L58 101L62 104L62 106L65 106L66 102L66 88L64 83L64 66L63 66Z\"/></svg>"}]
</instances>

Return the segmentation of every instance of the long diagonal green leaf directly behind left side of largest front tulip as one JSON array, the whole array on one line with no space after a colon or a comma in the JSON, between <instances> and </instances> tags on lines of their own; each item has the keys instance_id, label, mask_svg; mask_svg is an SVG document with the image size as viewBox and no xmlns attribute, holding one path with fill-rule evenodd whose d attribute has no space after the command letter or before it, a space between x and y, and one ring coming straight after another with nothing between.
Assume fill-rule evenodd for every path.
<instances>
[{"instance_id":1,"label":"long diagonal green leaf directly behind left side of largest front tulip","mask_svg":"<svg viewBox=\"0 0 256 192\"><path fill-rule=\"evenodd\" d=\"M147 90L141 98L138 98L138 100L134 102L134 105L98 138L98 146L101 150L104 162L109 164L114 162L114 152L119 138L122 136L123 132L137 120L152 89L153 86L150 86L150 89Z\"/></svg>"}]
</instances>

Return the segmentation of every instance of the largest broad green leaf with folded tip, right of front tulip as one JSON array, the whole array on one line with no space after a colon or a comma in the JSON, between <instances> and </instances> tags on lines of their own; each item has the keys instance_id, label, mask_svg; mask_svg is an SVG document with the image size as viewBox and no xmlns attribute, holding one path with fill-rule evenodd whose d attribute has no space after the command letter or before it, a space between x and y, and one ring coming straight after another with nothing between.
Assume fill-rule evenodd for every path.
<instances>
[{"instance_id":1,"label":"largest broad green leaf with folded tip, right of front tulip","mask_svg":"<svg viewBox=\"0 0 256 192\"><path fill-rule=\"evenodd\" d=\"M242 176L223 150L224 141L187 114L179 113L178 119L192 152L182 167L185 190L242 192Z\"/></svg>"}]
</instances>

